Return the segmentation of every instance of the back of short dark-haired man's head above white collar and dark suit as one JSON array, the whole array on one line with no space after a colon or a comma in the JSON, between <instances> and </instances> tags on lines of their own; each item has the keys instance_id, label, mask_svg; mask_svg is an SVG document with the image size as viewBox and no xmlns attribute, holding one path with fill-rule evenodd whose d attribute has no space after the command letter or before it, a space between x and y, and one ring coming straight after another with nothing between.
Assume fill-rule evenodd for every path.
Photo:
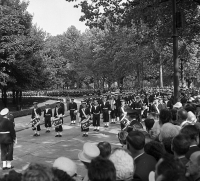
<instances>
[{"instance_id":1,"label":"back of short dark-haired man's head above white collar and dark suit","mask_svg":"<svg viewBox=\"0 0 200 181\"><path fill-rule=\"evenodd\" d=\"M127 138L127 148L133 148L136 151L142 150L145 145L145 136L141 131L129 132Z\"/></svg>"}]
</instances>

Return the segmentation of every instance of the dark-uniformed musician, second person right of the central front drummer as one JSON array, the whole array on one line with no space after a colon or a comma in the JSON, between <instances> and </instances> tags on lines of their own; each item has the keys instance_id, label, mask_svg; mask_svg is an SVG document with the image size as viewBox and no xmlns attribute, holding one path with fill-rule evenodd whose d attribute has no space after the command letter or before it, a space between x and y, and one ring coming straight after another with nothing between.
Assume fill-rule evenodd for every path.
<instances>
[{"instance_id":1,"label":"dark-uniformed musician, second person right of the central front drummer","mask_svg":"<svg viewBox=\"0 0 200 181\"><path fill-rule=\"evenodd\" d=\"M106 128L109 126L110 110L110 104L106 101L106 96L104 96L101 104L101 112L103 113L103 122L105 124L104 127Z\"/></svg>"}]
</instances>

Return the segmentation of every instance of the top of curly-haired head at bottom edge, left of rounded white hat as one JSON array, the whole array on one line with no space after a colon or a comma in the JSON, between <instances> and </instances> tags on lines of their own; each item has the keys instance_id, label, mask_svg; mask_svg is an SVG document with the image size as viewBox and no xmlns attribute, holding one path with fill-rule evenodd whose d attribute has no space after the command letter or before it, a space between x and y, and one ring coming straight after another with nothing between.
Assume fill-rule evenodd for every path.
<instances>
[{"instance_id":1,"label":"top of curly-haired head at bottom edge, left of rounded white hat","mask_svg":"<svg viewBox=\"0 0 200 181\"><path fill-rule=\"evenodd\" d=\"M58 181L51 167L44 164L31 163L25 170L22 181Z\"/></svg>"}]
</instances>

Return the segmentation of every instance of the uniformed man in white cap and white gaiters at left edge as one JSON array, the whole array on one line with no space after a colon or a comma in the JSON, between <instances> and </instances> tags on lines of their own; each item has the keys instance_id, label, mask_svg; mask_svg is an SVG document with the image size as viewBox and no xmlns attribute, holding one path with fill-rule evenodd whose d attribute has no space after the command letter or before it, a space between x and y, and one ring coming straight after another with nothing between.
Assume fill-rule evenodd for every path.
<instances>
[{"instance_id":1,"label":"uniformed man in white cap and white gaiters at left edge","mask_svg":"<svg viewBox=\"0 0 200 181\"><path fill-rule=\"evenodd\" d=\"M16 133L14 124L8 118L9 110L2 109L0 112L0 145L1 160L3 161L3 170L12 169L13 144L16 142Z\"/></svg>"}]
</instances>

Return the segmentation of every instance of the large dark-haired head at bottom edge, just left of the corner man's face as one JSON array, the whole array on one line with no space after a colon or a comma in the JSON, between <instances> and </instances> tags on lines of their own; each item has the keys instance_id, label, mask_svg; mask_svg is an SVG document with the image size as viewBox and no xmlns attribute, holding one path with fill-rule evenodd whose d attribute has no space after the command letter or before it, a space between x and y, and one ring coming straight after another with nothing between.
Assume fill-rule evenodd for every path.
<instances>
[{"instance_id":1,"label":"large dark-haired head at bottom edge, just left of the corner man's face","mask_svg":"<svg viewBox=\"0 0 200 181\"><path fill-rule=\"evenodd\" d=\"M156 181L185 181L185 168L172 155L164 155L156 165Z\"/></svg>"}]
</instances>

